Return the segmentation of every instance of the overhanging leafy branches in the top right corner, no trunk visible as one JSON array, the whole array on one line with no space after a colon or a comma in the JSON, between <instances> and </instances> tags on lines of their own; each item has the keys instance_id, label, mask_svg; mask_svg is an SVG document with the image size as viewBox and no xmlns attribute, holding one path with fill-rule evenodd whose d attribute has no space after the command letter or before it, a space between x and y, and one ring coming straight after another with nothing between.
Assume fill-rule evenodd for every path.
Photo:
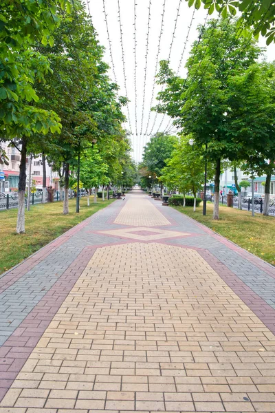
<instances>
[{"instance_id":1,"label":"overhanging leafy branches in the top right corner, no trunk visible","mask_svg":"<svg viewBox=\"0 0 275 413\"><path fill-rule=\"evenodd\" d=\"M261 33L267 40L267 45L275 39L275 3L274 0L186 0L188 6L200 8L201 2L204 8L208 9L211 15L217 10L222 17L228 14L236 15L241 12L238 20L238 28L243 30L246 36L250 36L249 29L252 28L254 36L258 37Z\"/></svg>"}]
</instances>

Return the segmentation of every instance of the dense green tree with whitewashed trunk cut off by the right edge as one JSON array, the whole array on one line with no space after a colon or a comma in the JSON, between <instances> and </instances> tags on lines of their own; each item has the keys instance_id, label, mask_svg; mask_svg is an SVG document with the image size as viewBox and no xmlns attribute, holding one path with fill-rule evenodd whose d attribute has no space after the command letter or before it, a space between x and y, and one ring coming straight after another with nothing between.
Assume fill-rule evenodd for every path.
<instances>
[{"instance_id":1,"label":"dense green tree with whitewashed trunk cut off by the right edge","mask_svg":"<svg viewBox=\"0 0 275 413\"><path fill-rule=\"evenodd\" d=\"M270 207L270 182L275 171L275 65L257 63L228 79L230 131L239 147L242 169L267 176L263 213Z\"/></svg>"}]
</instances>

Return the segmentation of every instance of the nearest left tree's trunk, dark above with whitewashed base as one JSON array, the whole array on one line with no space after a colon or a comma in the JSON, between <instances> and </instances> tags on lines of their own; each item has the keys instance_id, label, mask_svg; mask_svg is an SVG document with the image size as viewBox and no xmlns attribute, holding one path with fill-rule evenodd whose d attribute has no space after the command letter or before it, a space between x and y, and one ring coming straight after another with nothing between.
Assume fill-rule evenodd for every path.
<instances>
[{"instance_id":1,"label":"nearest left tree's trunk, dark above with whitewashed base","mask_svg":"<svg viewBox=\"0 0 275 413\"><path fill-rule=\"evenodd\" d=\"M25 233L25 184L26 184L26 160L27 160L27 138L23 136L21 147L21 160L18 184L18 211L17 211L17 233ZM30 184L30 182L29 182Z\"/></svg>"}]
</instances>

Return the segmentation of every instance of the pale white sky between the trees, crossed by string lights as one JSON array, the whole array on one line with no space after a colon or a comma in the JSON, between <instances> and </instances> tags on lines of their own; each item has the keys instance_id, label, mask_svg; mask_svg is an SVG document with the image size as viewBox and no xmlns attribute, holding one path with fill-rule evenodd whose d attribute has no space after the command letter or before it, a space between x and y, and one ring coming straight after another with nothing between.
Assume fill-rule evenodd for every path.
<instances>
[{"instance_id":1,"label":"pale white sky between the trees, crossed by string lights","mask_svg":"<svg viewBox=\"0 0 275 413\"><path fill-rule=\"evenodd\" d=\"M155 97L162 88L155 83L155 73L159 70L157 63L168 59L170 53L170 67L175 72L179 69L179 76L186 74L184 65L192 43L197 40L197 26L204 23L207 11L200 8L193 14L194 8L188 8L185 0L96 0L89 1L89 10L98 40L106 49L104 61L110 65L109 76L120 86L120 95L128 96L130 100L124 108L127 118L124 127L132 132L133 158L138 162L142 159L142 148L151 136L157 131L173 133L175 130L168 116L150 110L157 103ZM259 43L265 46L265 39ZM269 61L274 59L274 44L267 47L266 56Z\"/></svg>"}]
</instances>

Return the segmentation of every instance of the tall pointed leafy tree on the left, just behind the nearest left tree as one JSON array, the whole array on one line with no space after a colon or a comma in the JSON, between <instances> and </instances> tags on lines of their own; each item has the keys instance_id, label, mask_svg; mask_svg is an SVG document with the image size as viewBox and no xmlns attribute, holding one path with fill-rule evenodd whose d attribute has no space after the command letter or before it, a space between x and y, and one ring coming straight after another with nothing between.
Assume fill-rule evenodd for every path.
<instances>
[{"instance_id":1,"label":"tall pointed leafy tree on the left, just behind the nearest left tree","mask_svg":"<svg viewBox=\"0 0 275 413\"><path fill-rule=\"evenodd\" d=\"M84 6L76 4L70 18L61 21L54 30L54 41L54 47L39 47L53 68L46 83L38 85L39 105L56 108L63 125L61 135L49 136L44 149L47 158L63 167L63 213L66 214L69 175L77 167L78 155L87 156L87 147L96 142L100 158L106 163L100 142L104 142L105 155L110 154L109 148L116 145L117 137L113 136L122 133L121 108L126 99L118 97L118 86L107 76L109 67L102 61L104 50L98 44Z\"/></svg>"}]
</instances>

